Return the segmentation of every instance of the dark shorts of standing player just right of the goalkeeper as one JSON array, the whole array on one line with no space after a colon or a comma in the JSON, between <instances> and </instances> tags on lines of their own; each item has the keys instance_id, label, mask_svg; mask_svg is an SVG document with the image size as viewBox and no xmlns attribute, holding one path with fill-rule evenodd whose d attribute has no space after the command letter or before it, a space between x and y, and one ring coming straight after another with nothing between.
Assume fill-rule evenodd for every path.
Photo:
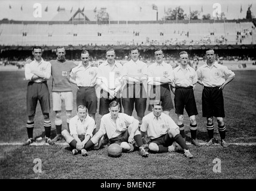
<instances>
[{"instance_id":1,"label":"dark shorts of standing player just right of the goalkeeper","mask_svg":"<svg viewBox=\"0 0 256 191\"><path fill-rule=\"evenodd\" d=\"M97 97L95 87L78 87L77 107L84 105L90 114L97 112Z\"/></svg>"}]
</instances>

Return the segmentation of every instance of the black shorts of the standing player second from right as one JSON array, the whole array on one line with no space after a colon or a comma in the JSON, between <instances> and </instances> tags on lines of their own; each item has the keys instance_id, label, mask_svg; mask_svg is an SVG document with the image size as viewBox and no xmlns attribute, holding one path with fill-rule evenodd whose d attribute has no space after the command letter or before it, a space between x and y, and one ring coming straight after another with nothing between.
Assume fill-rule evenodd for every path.
<instances>
[{"instance_id":1,"label":"black shorts of the standing player second from right","mask_svg":"<svg viewBox=\"0 0 256 191\"><path fill-rule=\"evenodd\" d=\"M198 114L193 87L176 87L174 104L175 113L179 115L184 114L184 108L187 111L188 116Z\"/></svg>"}]
</instances>

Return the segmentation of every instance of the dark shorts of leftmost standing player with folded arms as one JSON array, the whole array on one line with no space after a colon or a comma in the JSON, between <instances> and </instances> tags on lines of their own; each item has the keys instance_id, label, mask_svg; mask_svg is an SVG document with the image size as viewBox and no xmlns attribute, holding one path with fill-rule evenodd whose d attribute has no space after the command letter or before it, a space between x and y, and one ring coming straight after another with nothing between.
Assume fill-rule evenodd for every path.
<instances>
[{"instance_id":1,"label":"dark shorts of leftmost standing player with folded arms","mask_svg":"<svg viewBox=\"0 0 256 191\"><path fill-rule=\"evenodd\" d=\"M28 116L34 116L39 100L43 114L50 113L50 93L47 81L36 83L30 81L27 88L27 112Z\"/></svg>"}]
</instances>

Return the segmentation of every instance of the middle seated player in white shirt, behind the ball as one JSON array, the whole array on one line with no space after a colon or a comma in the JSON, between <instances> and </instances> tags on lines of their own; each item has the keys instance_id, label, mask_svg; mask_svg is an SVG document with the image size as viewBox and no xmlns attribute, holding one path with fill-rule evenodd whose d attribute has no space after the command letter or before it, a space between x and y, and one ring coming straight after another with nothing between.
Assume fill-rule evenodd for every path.
<instances>
[{"instance_id":1,"label":"middle seated player in white shirt, behind the ball","mask_svg":"<svg viewBox=\"0 0 256 191\"><path fill-rule=\"evenodd\" d=\"M119 113L120 104L117 101L112 101L109 104L109 113L103 115L100 120L99 131L91 138L84 146L84 149L89 149L99 142L103 135L107 135L109 142L120 144L123 152L132 152L133 143L136 142L139 146L139 154L143 157L148 156L148 152L142 143L141 133L138 130L139 121L133 116L125 113ZM100 145L99 145L100 147Z\"/></svg>"}]
</instances>

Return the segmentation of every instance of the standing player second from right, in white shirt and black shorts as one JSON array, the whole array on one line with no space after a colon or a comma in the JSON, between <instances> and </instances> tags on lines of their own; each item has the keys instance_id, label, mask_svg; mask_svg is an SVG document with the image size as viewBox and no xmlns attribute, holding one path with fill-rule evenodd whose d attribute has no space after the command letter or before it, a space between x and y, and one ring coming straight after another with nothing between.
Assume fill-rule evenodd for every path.
<instances>
[{"instance_id":1,"label":"standing player second from right, in white shirt and black shorts","mask_svg":"<svg viewBox=\"0 0 256 191\"><path fill-rule=\"evenodd\" d=\"M185 129L183 124L184 119L184 107L190 118L190 133L191 143L195 146L201 146L196 140L196 115L197 107L196 100L194 98L194 88L197 83L196 71L188 64L188 53L181 51L179 53L179 62L181 63L178 67L173 69L173 84L172 92L175 94L175 113L178 117L179 132L185 139Z\"/></svg>"}]
</instances>

